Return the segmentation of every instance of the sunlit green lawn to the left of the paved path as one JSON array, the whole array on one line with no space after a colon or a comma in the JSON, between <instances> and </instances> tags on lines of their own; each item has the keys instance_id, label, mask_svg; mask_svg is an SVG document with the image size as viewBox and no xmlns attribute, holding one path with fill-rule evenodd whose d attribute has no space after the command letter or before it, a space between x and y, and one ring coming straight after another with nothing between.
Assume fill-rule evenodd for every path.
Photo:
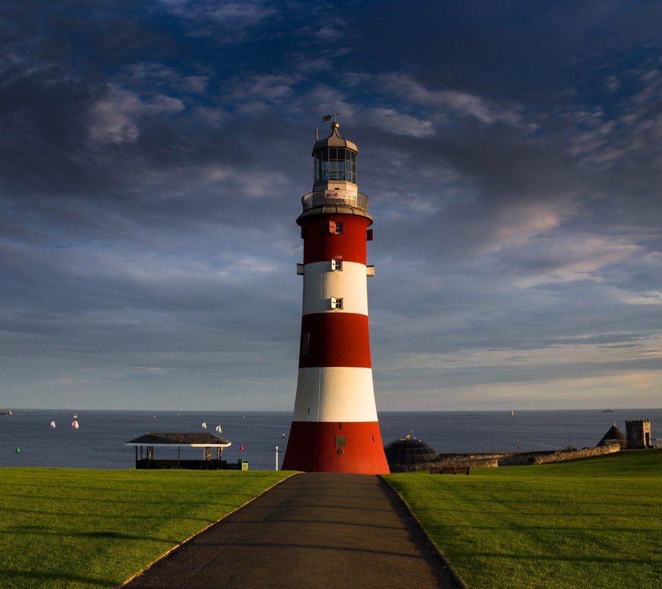
<instances>
[{"instance_id":1,"label":"sunlit green lawn to the left of the paved path","mask_svg":"<svg viewBox=\"0 0 662 589\"><path fill-rule=\"evenodd\" d=\"M287 476L0 468L0 587L112 587Z\"/></svg>"}]
</instances>

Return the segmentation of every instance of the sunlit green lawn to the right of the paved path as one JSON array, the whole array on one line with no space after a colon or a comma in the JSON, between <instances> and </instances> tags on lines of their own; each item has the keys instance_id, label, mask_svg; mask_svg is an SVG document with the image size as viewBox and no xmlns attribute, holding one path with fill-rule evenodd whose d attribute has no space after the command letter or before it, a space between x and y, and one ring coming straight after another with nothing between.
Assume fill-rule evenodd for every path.
<instances>
[{"instance_id":1,"label":"sunlit green lawn to the right of the paved path","mask_svg":"<svg viewBox=\"0 0 662 589\"><path fill-rule=\"evenodd\" d=\"M385 478L470 588L662 586L662 450Z\"/></svg>"}]
</instances>

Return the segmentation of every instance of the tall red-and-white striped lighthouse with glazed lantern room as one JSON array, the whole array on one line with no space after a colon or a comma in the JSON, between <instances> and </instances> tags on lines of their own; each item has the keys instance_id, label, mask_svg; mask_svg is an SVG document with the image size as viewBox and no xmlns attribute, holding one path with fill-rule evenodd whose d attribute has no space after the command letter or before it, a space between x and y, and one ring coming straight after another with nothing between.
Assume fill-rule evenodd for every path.
<instances>
[{"instance_id":1,"label":"tall red-and-white striped lighthouse with glazed lantern room","mask_svg":"<svg viewBox=\"0 0 662 589\"><path fill-rule=\"evenodd\" d=\"M329 117L330 118L330 117ZM312 150L314 184L301 197L301 346L294 415L283 469L389 472L372 386L366 243L368 197L357 186L359 148L339 134Z\"/></svg>"}]
</instances>

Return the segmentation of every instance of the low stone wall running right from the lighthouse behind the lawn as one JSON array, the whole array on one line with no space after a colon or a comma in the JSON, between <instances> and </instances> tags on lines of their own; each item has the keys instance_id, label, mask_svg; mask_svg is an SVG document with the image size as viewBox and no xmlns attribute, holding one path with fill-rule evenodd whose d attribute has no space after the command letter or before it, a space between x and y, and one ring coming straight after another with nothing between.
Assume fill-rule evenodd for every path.
<instances>
[{"instance_id":1,"label":"low stone wall running right from the lighthouse behind the lawn","mask_svg":"<svg viewBox=\"0 0 662 589\"><path fill-rule=\"evenodd\" d=\"M440 454L433 462L392 466L391 472L413 472L440 466L470 466L471 468L495 468L497 466L521 466L525 464L547 464L579 458L590 458L619 452L618 444L581 450L551 450L549 452L493 452L491 454Z\"/></svg>"}]
</instances>

